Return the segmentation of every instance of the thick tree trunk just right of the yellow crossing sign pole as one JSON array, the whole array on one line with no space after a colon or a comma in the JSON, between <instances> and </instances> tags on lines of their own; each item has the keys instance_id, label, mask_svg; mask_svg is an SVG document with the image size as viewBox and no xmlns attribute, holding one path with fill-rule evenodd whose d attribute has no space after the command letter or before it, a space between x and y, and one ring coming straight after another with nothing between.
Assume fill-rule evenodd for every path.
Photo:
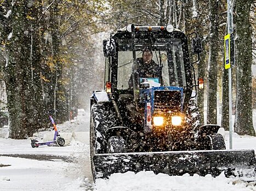
<instances>
[{"instance_id":1,"label":"thick tree trunk just right of the yellow crossing sign pole","mask_svg":"<svg viewBox=\"0 0 256 191\"><path fill-rule=\"evenodd\" d=\"M235 132L253 135L252 121L252 26L249 13L252 0L236 1L236 117Z\"/></svg>"}]
</instances>

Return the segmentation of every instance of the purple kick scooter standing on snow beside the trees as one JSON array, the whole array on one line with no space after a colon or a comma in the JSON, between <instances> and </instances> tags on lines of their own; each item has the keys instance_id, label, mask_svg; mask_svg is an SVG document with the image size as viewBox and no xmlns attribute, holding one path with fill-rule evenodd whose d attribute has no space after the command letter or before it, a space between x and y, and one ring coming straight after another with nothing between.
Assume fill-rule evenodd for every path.
<instances>
[{"instance_id":1,"label":"purple kick scooter standing on snow beside the trees","mask_svg":"<svg viewBox=\"0 0 256 191\"><path fill-rule=\"evenodd\" d=\"M65 139L60 137L59 132L58 132L57 127L56 127L56 124L55 124L55 122L53 120L53 117L49 116L49 118L50 118L50 121L52 122L54 130L55 130L53 141L38 142L38 140L32 139L31 140L31 146L33 148L38 147L38 146L42 146L42 145L48 145L48 146L50 146L50 145L53 145L53 146L57 146L57 145L64 146L65 145ZM56 138L57 138L57 140L56 140Z\"/></svg>"}]
</instances>

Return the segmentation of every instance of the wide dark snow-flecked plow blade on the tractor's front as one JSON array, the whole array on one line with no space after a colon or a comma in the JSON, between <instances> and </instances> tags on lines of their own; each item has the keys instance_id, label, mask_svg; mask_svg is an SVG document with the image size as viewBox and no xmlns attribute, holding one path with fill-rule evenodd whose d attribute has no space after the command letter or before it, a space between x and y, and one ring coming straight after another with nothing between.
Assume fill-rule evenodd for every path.
<instances>
[{"instance_id":1,"label":"wide dark snow-flecked plow blade on the tractor's front","mask_svg":"<svg viewBox=\"0 0 256 191\"><path fill-rule=\"evenodd\" d=\"M114 173L153 171L168 175L211 174L218 176L227 169L254 173L254 150L168 151L144 153L95 154L95 178L108 178Z\"/></svg>"}]
</instances>

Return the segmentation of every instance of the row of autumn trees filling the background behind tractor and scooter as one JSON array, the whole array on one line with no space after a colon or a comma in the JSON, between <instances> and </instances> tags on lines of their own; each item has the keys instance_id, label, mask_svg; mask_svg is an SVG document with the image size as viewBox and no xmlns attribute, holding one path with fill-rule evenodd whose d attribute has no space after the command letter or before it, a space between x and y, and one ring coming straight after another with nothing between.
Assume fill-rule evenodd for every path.
<instances>
[{"instance_id":1,"label":"row of autumn trees filling the background behind tractor and scooter","mask_svg":"<svg viewBox=\"0 0 256 191\"><path fill-rule=\"evenodd\" d=\"M237 6L235 14L244 15L244 20L251 21L252 26L255 27L253 17L248 20L248 13L243 14L249 9L241 8L241 2L235 2ZM250 0L244 4L249 6L250 3L253 4L252 13L255 14L255 2ZM208 93L207 121L217 123L219 100L216 95L218 82L221 81L223 74L222 39L226 26L225 4L224 0L0 1L0 53L2 55L0 73L4 74L7 85L10 137L26 138L38 129L48 127L49 114L54 115L59 122L65 121L69 119L70 111L77 108L79 100L89 102L92 89L103 88L104 75L103 58L95 57L95 52L99 51L100 47L95 44L93 36L99 32L116 31L117 28L130 23L151 26L171 23L186 34L197 32L202 38L204 52L201 54L200 63L195 64L196 76L204 77L208 87L198 92L198 106L203 114L204 93ZM243 31L237 27L237 34L239 34L237 44L243 44L242 42L246 41L247 45L252 45L255 52L255 38L252 44L242 35L242 33L251 35L248 22L242 22L238 18L236 26L243 26L241 28L244 30L248 29ZM104 38L104 35L99 33L96 37ZM237 88L238 85L241 87L241 81L248 82L248 86L244 88L250 93L251 68L249 65L252 62L249 58L243 58L239 52L244 50L251 52L251 49L249 50L248 46L237 45L237 47L239 50ZM255 53L253 56L255 57ZM191 62L194 61L193 57L190 59ZM240 64L246 62L247 64ZM248 70L246 75L244 70ZM224 98L227 87L225 76L224 71ZM249 78L245 79L244 76ZM243 96L248 97L248 94L243 93L237 93L237 105L250 104L238 101ZM223 103L222 124L226 126L227 102L225 99ZM239 113L242 114L246 108L248 109L248 106L241 107L241 112L237 110L237 127L246 128L242 127L243 121L240 123L238 120L242 117ZM249 115L245 118L248 117ZM202 117L201 123L203 122ZM244 132L248 133L247 130Z\"/></svg>"}]
</instances>

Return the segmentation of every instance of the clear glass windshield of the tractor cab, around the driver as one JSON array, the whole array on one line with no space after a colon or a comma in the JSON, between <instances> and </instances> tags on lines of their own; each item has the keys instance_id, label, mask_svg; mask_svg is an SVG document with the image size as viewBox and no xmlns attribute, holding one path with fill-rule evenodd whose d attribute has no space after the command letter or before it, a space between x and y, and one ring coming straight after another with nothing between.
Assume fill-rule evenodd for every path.
<instances>
[{"instance_id":1,"label":"clear glass windshield of the tractor cab, around the driver","mask_svg":"<svg viewBox=\"0 0 256 191\"><path fill-rule=\"evenodd\" d=\"M117 89L128 89L128 82L132 76L133 70L133 52L131 46L120 41L118 56L118 69L117 69ZM136 58L143 57L143 47L145 44L135 45ZM151 44L152 60L158 67L162 68L161 86L186 86L185 67L183 59L183 49L179 39L164 39L156 44ZM139 76L141 79L141 76Z\"/></svg>"}]
</instances>

